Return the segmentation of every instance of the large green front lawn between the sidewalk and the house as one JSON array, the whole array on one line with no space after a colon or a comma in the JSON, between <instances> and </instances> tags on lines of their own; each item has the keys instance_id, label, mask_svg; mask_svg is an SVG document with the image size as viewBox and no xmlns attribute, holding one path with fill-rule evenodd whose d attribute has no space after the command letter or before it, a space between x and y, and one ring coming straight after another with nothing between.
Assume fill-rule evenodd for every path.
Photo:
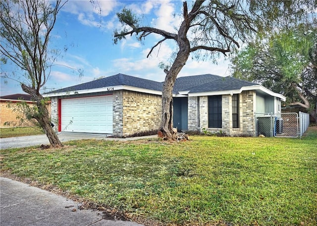
<instances>
[{"instance_id":1,"label":"large green front lawn between the sidewalk and the house","mask_svg":"<svg viewBox=\"0 0 317 226\"><path fill-rule=\"evenodd\" d=\"M140 223L317 225L317 130L303 139L66 144L1 150L1 170Z\"/></svg>"}]
</instances>

